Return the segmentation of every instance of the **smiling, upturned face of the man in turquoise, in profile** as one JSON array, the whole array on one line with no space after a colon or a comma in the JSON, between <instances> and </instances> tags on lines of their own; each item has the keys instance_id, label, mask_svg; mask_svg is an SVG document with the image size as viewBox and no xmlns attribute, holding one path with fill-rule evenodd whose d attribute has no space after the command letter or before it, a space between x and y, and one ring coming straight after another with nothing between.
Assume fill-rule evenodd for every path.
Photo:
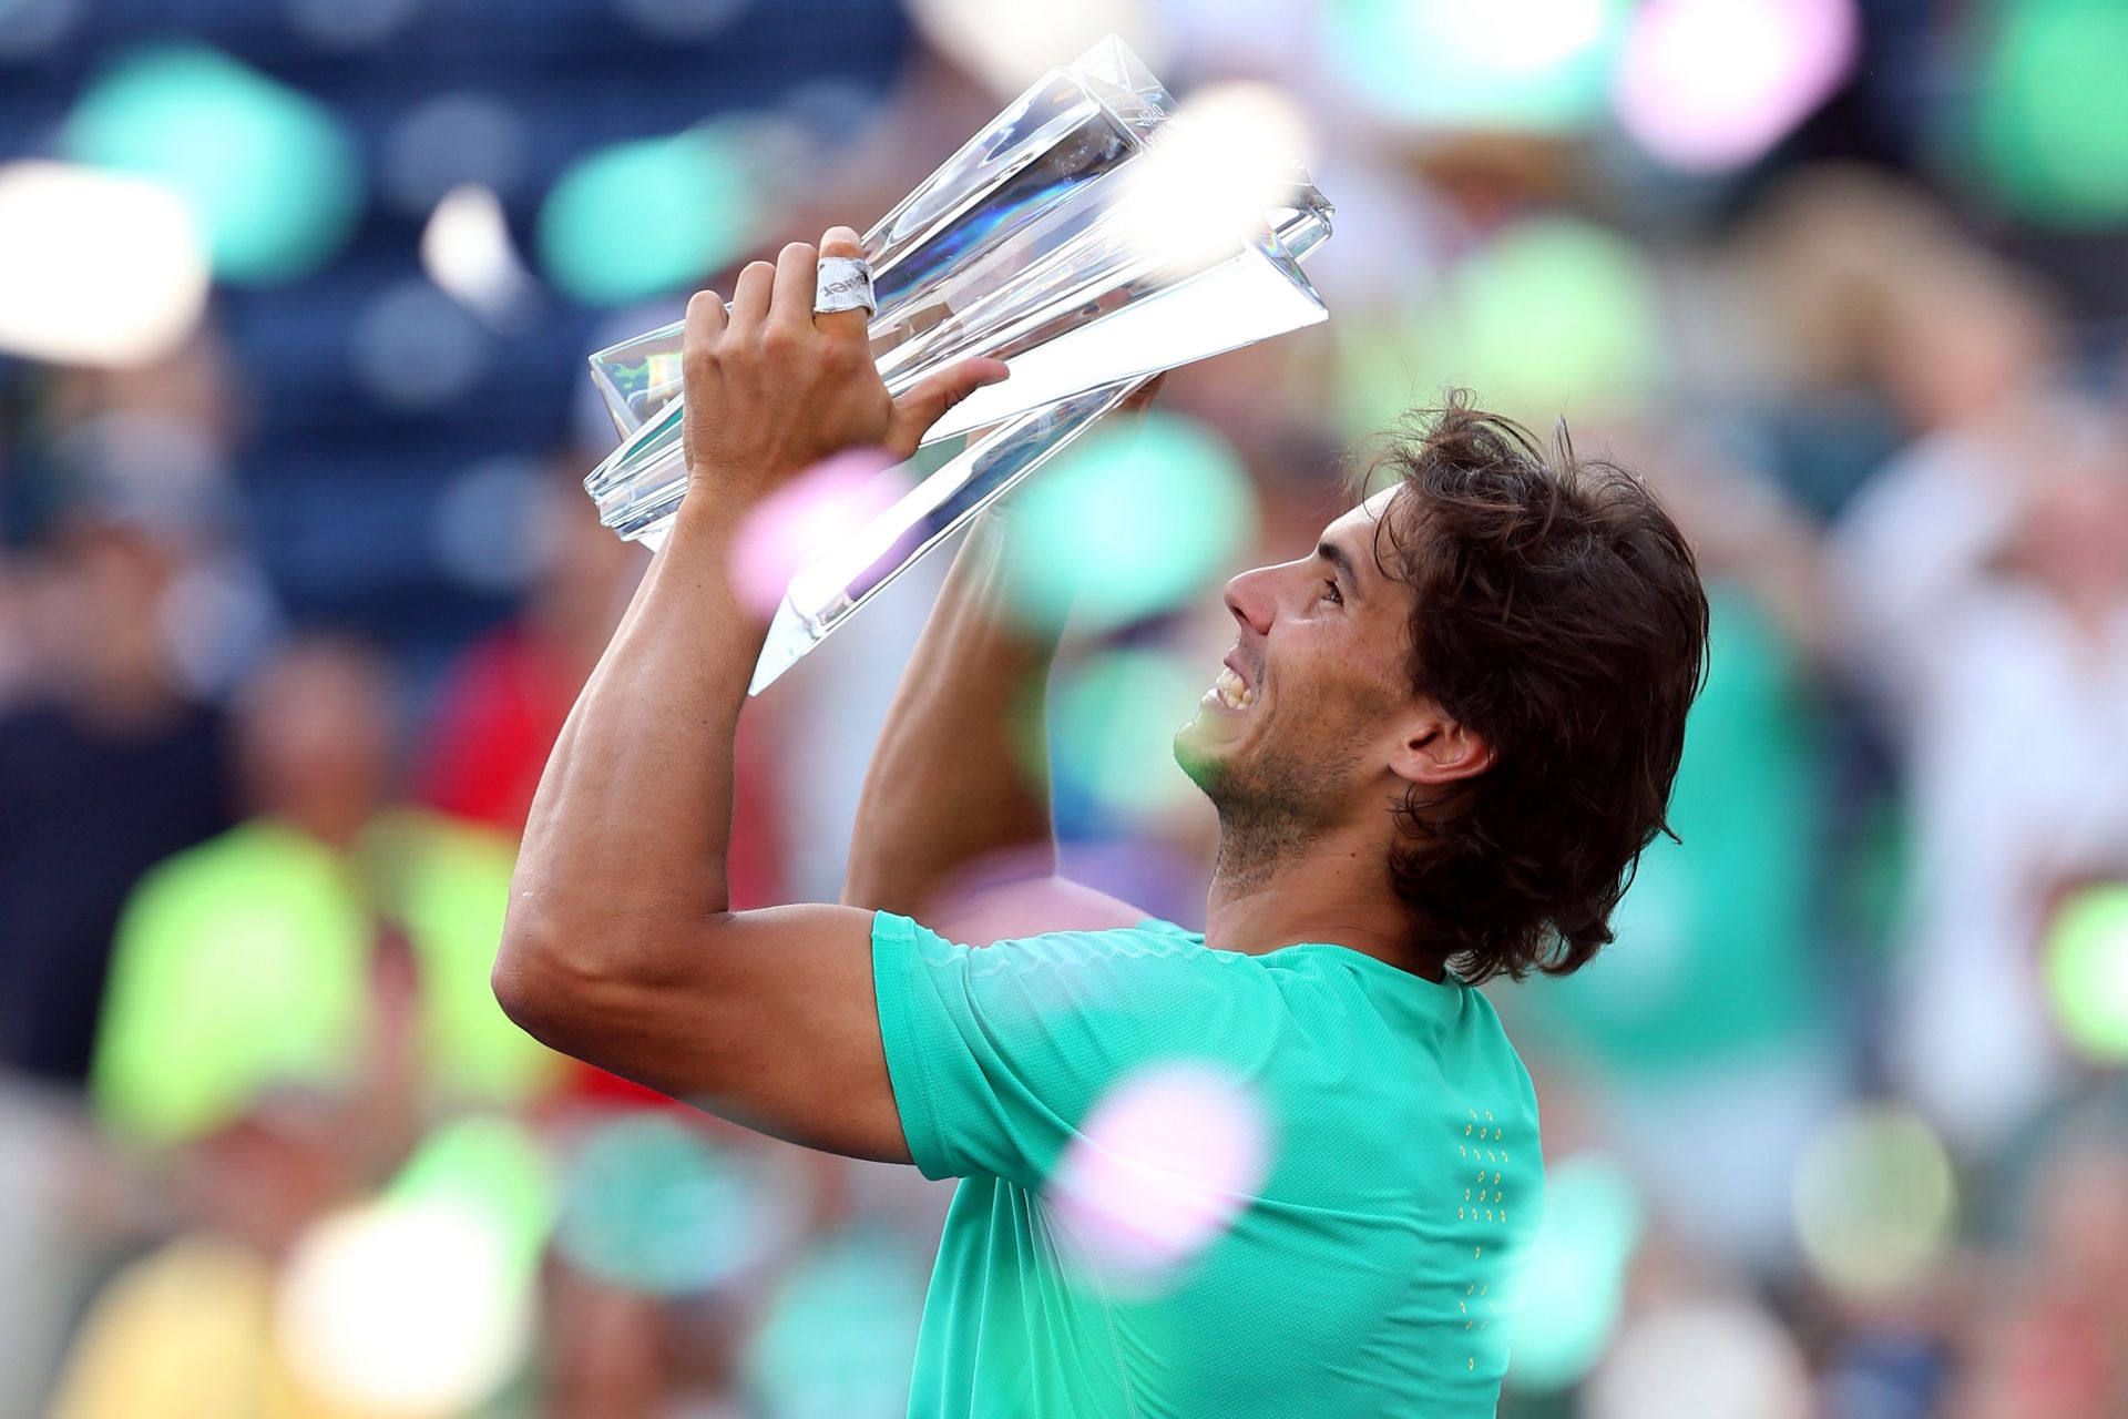
<instances>
[{"instance_id":1,"label":"smiling, upturned face of the man in turquoise, in profile","mask_svg":"<svg viewBox=\"0 0 2128 1419\"><path fill-rule=\"evenodd\" d=\"M1221 817L1326 830L1379 813L1368 791L1411 706L1411 587L1375 566L1375 523L1398 489L1324 528L1307 555L1226 585L1232 672L1175 734L1175 759Z\"/></svg>"}]
</instances>

